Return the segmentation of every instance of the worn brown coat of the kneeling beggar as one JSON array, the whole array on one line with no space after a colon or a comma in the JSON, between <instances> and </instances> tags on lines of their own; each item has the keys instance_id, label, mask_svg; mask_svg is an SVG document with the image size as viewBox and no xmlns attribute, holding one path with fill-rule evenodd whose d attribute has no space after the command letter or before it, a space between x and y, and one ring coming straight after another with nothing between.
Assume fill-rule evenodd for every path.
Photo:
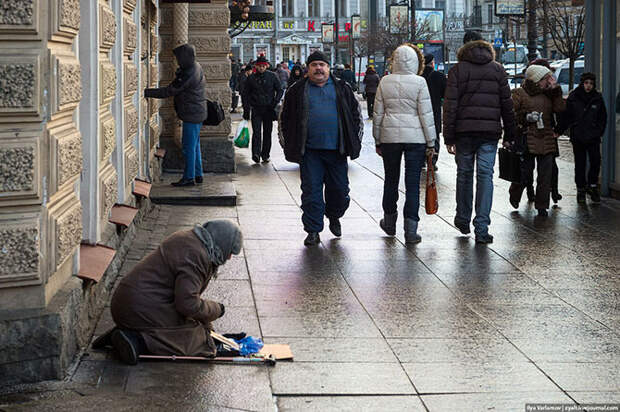
<instances>
[{"instance_id":1,"label":"worn brown coat of the kneeling beggar","mask_svg":"<svg viewBox=\"0 0 620 412\"><path fill-rule=\"evenodd\" d=\"M200 295L216 270L192 230L173 233L121 280L112 318L138 331L151 354L214 356L209 330L222 308Z\"/></svg>"}]
</instances>

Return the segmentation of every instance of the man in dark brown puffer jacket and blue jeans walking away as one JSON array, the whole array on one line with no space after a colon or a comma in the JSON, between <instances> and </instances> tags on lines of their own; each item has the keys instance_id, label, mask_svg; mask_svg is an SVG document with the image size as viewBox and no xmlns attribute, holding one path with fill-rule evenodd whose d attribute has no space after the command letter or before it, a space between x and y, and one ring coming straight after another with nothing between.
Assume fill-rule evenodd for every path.
<instances>
[{"instance_id":1,"label":"man in dark brown puffer jacket and blue jeans walking away","mask_svg":"<svg viewBox=\"0 0 620 412\"><path fill-rule=\"evenodd\" d=\"M475 31L467 31L463 43L457 53L458 63L448 73L443 104L443 137L457 165L454 225L461 233L470 233L475 166L476 242L491 243L489 225L497 142L502 128L504 141L514 139L514 111L508 75L495 61L493 46Z\"/></svg>"}]
</instances>

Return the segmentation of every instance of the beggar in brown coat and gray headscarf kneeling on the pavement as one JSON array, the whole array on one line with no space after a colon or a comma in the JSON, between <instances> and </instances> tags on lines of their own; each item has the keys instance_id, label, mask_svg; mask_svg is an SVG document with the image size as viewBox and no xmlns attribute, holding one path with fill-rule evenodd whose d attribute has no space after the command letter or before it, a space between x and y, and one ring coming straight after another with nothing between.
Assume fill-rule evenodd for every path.
<instances>
[{"instance_id":1,"label":"beggar in brown coat and gray headscarf kneeling on the pavement","mask_svg":"<svg viewBox=\"0 0 620 412\"><path fill-rule=\"evenodd\" d=\"M211 322L224 315L224 305L200 295L242 244L235 223L213 220L173 233L144 257L112 296L116 328L109 343L121 361L135 365L140 354L215 356Z\"/></svg>"}]
</instances>

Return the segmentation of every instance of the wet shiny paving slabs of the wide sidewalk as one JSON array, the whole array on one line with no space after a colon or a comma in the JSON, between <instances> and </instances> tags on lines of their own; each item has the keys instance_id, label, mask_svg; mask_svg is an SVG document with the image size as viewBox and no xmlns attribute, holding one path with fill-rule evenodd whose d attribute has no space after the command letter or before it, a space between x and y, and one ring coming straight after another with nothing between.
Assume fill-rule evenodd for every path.
<instances>
[{"instance_id":1,"label":"wet shiny paving slabs of the wide sidewalk","mask_svg":"<svg viewBox=\"0 0 620 412\"><path fill-rule=\"evenodd\" d=\"M69 379L5 394L0 409L522 411L537 402L620 403L620 202L578 205L572 164L561 157L564 199L549 217L526 202L515 211L508 183L496 177L495 241L476 245L452 225L456 167L442 148L439 213L421 209L422 242L407 246L402 215L395 238L379 228L383 167L366 126L362 155L350 162L342 238L326 229L319 246L304 247L298 167L274 137L271 163L254 164L248 149L238 150L237 206L156 206L123 267L176 230L234 219L244 250L206 292L226 305L214 325L288 343L294 362L131 367L89 349ZM106 311L96 334L111 323Z\"/></svg>"}]
</instances>

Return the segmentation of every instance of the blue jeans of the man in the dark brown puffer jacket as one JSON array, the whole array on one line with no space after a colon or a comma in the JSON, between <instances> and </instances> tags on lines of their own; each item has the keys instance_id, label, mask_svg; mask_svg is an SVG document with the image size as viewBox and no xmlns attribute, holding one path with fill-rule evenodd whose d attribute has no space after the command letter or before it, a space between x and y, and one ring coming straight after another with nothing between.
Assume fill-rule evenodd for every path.
<instances>
[{"instance_id":1,"label":"blue jeans of the man in the dark brown puffer jacket","mask_svg":"<svg viewBox=\"0 0 620 412\"><path fill-rule=\"evenodd\" d=\"M469 225L474 191L474 163L476 164L476 217L474 233L489 233L493 205L493 166L497 142L479 138L460 138L456 143L456 217L462 225Z\"/></svg>"}]
</instances>

